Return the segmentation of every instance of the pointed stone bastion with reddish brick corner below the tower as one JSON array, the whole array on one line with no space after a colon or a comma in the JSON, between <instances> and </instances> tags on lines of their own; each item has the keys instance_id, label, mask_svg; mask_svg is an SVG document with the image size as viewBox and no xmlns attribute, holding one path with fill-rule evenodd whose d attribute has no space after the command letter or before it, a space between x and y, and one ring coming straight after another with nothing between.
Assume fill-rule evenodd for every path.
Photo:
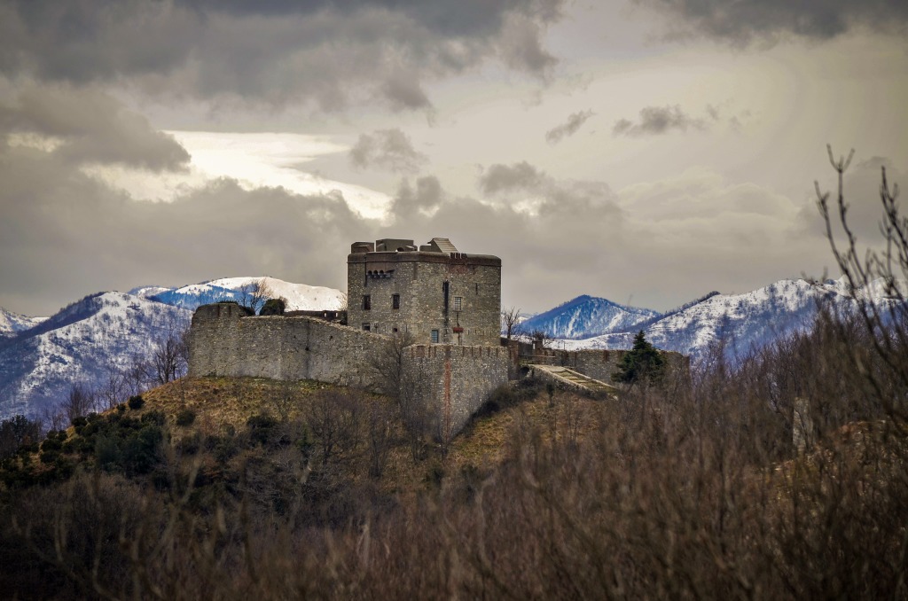
<instances>
[{"instance_id":1,"label":"pointed stone bastion with reddish brick corner below the tower","mask_svg":"<svg viewBox=\"0 0 908 601\"><path fill-rule=\"evenodd\" d=\"M403 369L421 384L429 413L438 416L439 438L449 439L489 399L492 390L508 383L508 349L455 344L407 347Z\"/></svg>"}]
</instances>

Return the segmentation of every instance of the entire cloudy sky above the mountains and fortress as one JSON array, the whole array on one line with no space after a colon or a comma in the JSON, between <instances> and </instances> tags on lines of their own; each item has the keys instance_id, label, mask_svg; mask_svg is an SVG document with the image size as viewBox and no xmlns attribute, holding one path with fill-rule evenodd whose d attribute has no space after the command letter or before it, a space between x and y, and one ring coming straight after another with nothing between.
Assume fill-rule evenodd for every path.
<instances>
[{"instance_id":1,"label":"entire cloudy sky above the mountains and fortress","mask_svg":"<svg viewBox=\"0 0 908 601\"><path fill-rule=\"evenodd\" d=\"M666 310L832 267L908 172L903 0L0 0L0 306L346 288L449 237L503 302ZM830 270L830 275L837 275Z\"/></svg>"}]
</instances>

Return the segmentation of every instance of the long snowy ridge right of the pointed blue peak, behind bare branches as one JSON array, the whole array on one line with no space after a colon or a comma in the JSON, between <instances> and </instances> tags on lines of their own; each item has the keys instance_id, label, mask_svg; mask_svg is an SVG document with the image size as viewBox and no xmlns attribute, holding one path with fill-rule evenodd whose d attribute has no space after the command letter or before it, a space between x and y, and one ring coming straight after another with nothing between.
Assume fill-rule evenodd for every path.
<instances>
[{"instance_id":1,"label":"long snowy ridge right of the pointed blue peak, behind bare branches","mask_svg":"<svg viewBox=\"0 0 908 601\"><path fill-rule=\"evenodd\" d=\"M714 294L686 309L645 322L641 328L656 347L676 350L694 359L722 341L731 360L759 349L772 340L809 329L821 303L834 310L855 308L854 296L886 302L882 286L853 295L844 281L823 283L782 280L744 294ZM557 348L629 349L635 331L611 332L586 340L558 340Z\"/></svg>"}]
</instances>

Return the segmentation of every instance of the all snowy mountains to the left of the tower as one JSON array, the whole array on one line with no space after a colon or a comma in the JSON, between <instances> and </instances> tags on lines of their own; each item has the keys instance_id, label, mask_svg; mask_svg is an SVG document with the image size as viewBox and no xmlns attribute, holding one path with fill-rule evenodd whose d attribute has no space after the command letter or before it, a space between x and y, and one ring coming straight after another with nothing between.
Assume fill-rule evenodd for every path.
<instances>
[{"instance_id":1,"label":"all snowy mountains to the left of the tower","mask_svg":"<svg viewBox=\"0 0 908 601\"><path fill-rule=\"evenodd\" d=\"M184 330L192 310L216 300L241 300L242 287L263 282L288 310L336 310L343 292L274 278L231 278L129 293L98 292L50 318L0 310L0 419L17 413L40 418L76 382L90 389L130 367L167 333Z\"/></svg>"}]
</instances>

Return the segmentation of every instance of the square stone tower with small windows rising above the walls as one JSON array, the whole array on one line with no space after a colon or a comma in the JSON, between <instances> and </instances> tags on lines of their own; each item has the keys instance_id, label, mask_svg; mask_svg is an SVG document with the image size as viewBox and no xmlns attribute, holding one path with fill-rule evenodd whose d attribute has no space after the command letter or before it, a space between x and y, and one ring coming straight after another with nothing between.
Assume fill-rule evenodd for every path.
<instances>
[{"instance_id":1,"label":"square stone tower with small windows rising above the walls","mask_svg":"<svg viewBox=\"0 0 908 601\"><path fill-rule=\"evenodd\" d=\"M347 323L417 344L498 346L501 260L459 252L447 238L354 242Z\"/></svg>"}]
</instances>

